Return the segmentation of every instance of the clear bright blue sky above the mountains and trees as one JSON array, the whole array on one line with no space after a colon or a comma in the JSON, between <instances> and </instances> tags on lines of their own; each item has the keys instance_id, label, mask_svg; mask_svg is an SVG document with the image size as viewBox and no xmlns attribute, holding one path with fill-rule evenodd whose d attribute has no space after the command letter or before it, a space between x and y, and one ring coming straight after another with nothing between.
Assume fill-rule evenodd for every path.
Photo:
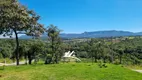
<instances>
[{"instance_id":1,"label":"clear bright blue sky above the mountains and trees","mask_svg":"<svg viewBox=\"0 0 142 80\"><path fill-rule=\"evenodd\" d=\"M20 0L63 33L142 31L142 0Z\"/></svg>"}]
</instances>

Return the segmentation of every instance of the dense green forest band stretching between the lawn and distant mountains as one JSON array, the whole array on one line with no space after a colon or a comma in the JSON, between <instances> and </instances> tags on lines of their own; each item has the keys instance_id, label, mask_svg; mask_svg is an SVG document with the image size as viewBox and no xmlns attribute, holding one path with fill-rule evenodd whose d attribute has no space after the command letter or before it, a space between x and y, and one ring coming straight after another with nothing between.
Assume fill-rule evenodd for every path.
<instances>
[{"instance_id":1,"label":"dense green forest band stretching between the lawn and distant mountains","mask_svg":"<svg viewBox=\"0 0 142 80\"><path fill-rule=\"evenodd\" d=\"M57 39L54 36L47 40L28 39L19 40L19 58L21 60L44 61L45 64L59 63L67 51L75 51L75 55L84 62L114 63L124 65L142 64L142 38L90 38L90 39ZM1 39L0 58L15 61L15 39ZM27 64L27 63L26 63Z\"/></svg>"}]
</instances>

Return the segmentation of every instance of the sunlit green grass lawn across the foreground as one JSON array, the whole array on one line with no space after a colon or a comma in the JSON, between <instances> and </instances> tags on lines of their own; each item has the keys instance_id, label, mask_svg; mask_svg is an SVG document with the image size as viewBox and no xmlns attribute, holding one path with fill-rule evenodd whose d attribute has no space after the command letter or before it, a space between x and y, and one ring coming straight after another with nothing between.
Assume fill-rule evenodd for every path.
<instances>
[{"instance_id":1,"label":"sunlit green grass lawn across the foreground","mask_svg":"<svg viewBox=\"0 0 142 80\"><path fill-rule=\"evenodd\" d=\"M142 74L119 65L99 68L91 63L8 66L0 80L141 80Z\"/></svg>"}]
</instances>

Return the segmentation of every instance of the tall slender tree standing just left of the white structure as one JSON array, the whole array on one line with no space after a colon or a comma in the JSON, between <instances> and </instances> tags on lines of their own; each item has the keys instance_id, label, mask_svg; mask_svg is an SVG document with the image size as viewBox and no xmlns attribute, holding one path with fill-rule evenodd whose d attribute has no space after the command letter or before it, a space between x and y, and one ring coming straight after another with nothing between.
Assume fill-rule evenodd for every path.
<instances>
[{"instance_id":1,"label":"tall slender tree standing just left of the white structure","mask_svg":"<svg viewBox=\"0 0 142 80\"><path fill-rule=\"evenodd\" d=\"M48 29L46 30L47 35L48 35L48 39L51 42L51 62L54 63L58 63L58 48L59 45L61 44L61 38L59 37L59 34L61 32L61 30L59 30L57 28L57 26L54 25L50 25L48 26Z\"/></svg>"}]
</instances>

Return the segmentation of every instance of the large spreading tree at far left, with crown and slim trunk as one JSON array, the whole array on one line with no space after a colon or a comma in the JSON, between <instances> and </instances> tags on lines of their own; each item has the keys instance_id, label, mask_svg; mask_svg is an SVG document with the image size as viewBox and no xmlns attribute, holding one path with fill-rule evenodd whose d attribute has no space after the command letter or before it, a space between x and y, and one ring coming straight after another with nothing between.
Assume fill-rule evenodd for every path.
<instances>
[{"instance_id":1,"label":"large spreading tree at far left, with crown and slim trunk","mask_svg":"<svg viewBox=\"0 0 142 80\"><path fill-rule=\"evenodd\" d=\"M0 34L12 36L16 39L16 62L19 65L19 39L18 34L22 31L30 36L37 36L44 32L43 26L37 21L39 16L28 10L17 0L0 1Z\"/></svg>"}]
</instances>

